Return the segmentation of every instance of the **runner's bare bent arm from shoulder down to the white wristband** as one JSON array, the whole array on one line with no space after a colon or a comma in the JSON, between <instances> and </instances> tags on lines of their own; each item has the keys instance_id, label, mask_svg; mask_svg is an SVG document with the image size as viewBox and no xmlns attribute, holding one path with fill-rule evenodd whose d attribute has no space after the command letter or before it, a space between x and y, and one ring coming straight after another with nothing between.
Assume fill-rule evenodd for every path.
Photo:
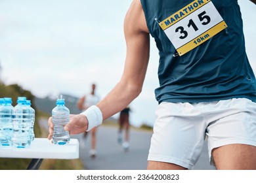
<instances>
[{"instance_id":1,"label":"runner's bare bent arm from shoulder down to the white wristband","mask_svg":"<svg viewBox=\"0 0 256 183\"><path fill-rule=\"evenodd\" d=\"M135 0L127 11L124 22L127 54L121 80L97 104L103 120L127 107L142 90L148 67L150 37L140 0Z\"/></svg>"}]
</instances>

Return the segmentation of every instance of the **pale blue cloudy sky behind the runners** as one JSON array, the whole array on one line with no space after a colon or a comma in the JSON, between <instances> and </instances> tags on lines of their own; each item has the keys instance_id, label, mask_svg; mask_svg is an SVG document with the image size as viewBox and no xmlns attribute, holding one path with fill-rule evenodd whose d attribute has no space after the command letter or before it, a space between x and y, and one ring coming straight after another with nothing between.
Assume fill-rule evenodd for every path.
<instances>
[{"instance_id":1,"label":"pale blue cloudy sky behind the runners","mask_svg":"<svg viewBox=\"0 0 256 183\"><path fill-rule=\"evenodd\" d=\"M247 56L256 73L256 7L249 0L238 3ZM0 0L1 79L37 97L81 97L95 83L103 98L123 73L123 19L130 4L131 0ZM142 92L130 106L135 126L153 125L158 105L158 51L153 39L151 44Z\"/></svg>"}]
</instances>

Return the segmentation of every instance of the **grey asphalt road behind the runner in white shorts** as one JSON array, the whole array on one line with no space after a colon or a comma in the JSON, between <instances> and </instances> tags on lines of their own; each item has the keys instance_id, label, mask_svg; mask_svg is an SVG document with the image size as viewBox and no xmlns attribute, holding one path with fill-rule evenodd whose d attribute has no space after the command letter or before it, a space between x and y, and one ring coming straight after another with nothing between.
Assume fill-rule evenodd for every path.
<instances>
[{"instance_id":1,"label":"grey asphalt road behind the runner in white shorts","mask_svg":"<svg viewBox=\"0 0 256 183\"><path fill-rule=\"evenodd\" d=\"M84 144L80 143L79 157L83 160L84 168L90 170L144 170L146 169L148 149L152 132L131 129L130 147L124 152L117 143L117 127L101 125L97 131L96 158L89 156L90 135ZM82 135L75 135L81 141ZM212 170L215 167L209 165L207 154L207 142L203 146L203 152L194 167L195 170Z\"/></svg>"}]
</instances>

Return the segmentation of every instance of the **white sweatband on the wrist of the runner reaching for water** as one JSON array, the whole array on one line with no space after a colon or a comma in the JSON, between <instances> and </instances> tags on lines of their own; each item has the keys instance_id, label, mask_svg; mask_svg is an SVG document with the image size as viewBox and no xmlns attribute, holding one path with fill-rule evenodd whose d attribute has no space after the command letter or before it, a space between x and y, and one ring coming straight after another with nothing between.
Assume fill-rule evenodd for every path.
<instances>
[{"instance_id":1,"label":"white sweatband on the wrist of the runner reaching for water","mask_svg":"<svg viewBox=\"0 0 256 183\"><path fill-rule=\"evenodd\" d=\"M93 127L102 124L102 112L100 111L100 108L96 107L96 105L92 105L81 114L85 115L88 120L87 131L90 131Z\"/></svg>"}]
</instances>

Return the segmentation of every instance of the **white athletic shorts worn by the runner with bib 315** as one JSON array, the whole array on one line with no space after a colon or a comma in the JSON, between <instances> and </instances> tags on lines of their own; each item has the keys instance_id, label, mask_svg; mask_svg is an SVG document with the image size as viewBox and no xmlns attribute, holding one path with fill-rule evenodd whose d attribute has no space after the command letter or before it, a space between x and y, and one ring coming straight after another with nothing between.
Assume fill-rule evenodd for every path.
<instances>
[{"instance_id":1,"label":"white athletic shorts worn by the runner with bib 315","mask_svg":"<svg viewBox=\"0 0 256 183\"><path fill-rule=\"evenodd\" d=\"M228 99L207 103L161 103L156 110L148 161L193 169L208 137L213 148L226 144L256 146L256 103Z\"/></svg>"}]
</instances>

